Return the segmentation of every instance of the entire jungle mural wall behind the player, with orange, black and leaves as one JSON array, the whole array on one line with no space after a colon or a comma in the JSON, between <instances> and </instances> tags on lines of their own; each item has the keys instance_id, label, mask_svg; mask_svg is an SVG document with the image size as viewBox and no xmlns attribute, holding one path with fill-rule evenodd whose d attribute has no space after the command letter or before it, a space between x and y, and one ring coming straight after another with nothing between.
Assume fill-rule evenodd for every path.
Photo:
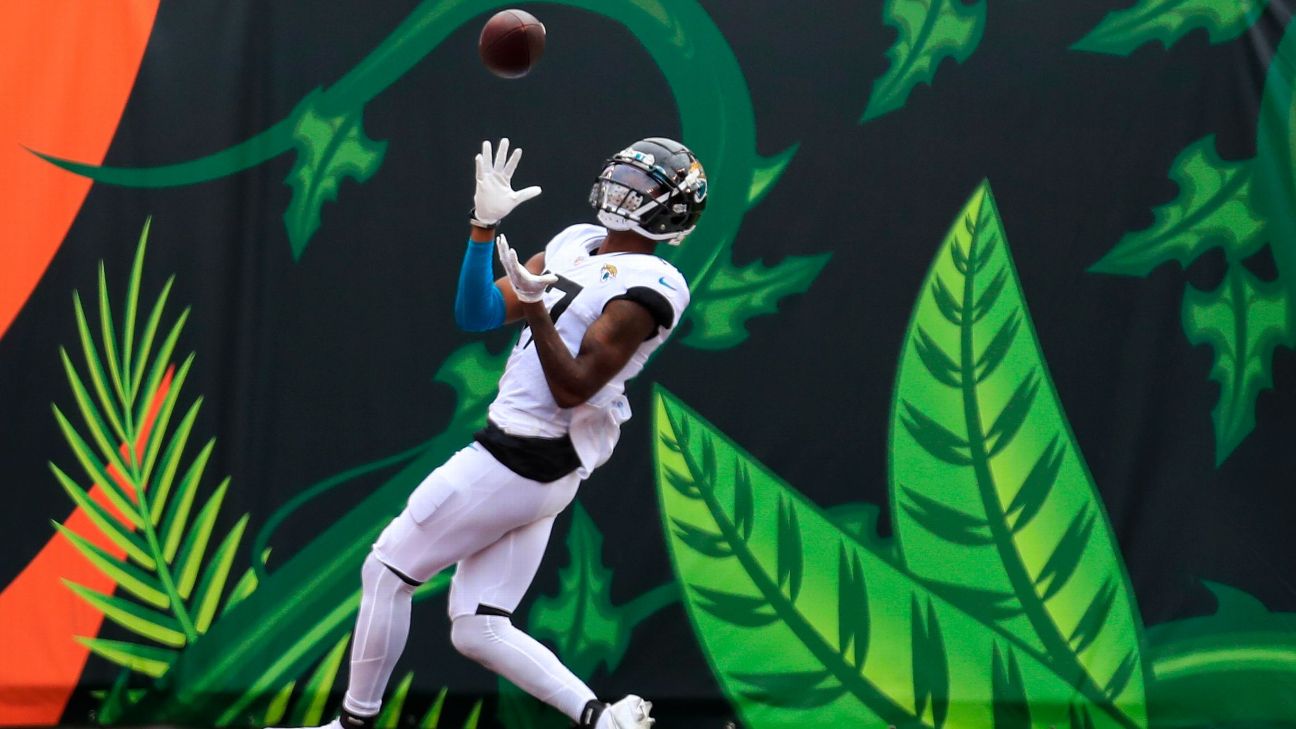
<instances>
[{"instance_id":1,"label":"entire jungle mural wall behind the player, with orange, black and leaves","mask_svg":"<svg viewBox=\"0 0 1296 729\"><path fill-rule=\"evenodd\" d=\"M485 422L472 156L539 250L682 139L692 305L516 621L661 726L1296 726L1280 0L13 5L0 724L311 725ZM560 728L416 593L378 724Z\"/></svg>"}]
</instances>

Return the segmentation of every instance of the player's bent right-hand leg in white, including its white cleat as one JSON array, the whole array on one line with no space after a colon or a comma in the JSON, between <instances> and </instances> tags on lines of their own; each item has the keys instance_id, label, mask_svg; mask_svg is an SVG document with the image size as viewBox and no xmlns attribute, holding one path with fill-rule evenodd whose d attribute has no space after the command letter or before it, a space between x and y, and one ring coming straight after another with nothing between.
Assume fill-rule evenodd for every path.
<instances>
[{"instance_id":1,"label":"player's bent right-hand leg in white, including its white cleat","mask_svg":"<svg viewBox=\"0 0 1296 729\"><path fill-rule=\"evenodd\" d=\"M548 516L520 527L459 563L450 588L451 641L461 654L557 708L578 726L648 728L651 703L626 697L605 707L553 651L512 623L544 556L552 525L553 516Z\"/></svg>"}]
</instances>

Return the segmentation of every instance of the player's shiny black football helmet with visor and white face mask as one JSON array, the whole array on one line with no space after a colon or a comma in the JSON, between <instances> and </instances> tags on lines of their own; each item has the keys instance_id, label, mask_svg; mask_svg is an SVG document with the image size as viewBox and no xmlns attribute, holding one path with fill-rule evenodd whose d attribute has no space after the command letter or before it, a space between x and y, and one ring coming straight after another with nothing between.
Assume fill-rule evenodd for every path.
<instances>
[{"instance_id":1,"label":"player's shiny black football helmet with visor and white face mask","mask_svg":"<svg viewBox=\"0 0 1296 729\"><path fill-rule=\"evenodd\" d=\"M706 208L706 173L683 144L642 139L603 163L590 206L609 230L679 245Z\"/></svg>"}]
</instances>

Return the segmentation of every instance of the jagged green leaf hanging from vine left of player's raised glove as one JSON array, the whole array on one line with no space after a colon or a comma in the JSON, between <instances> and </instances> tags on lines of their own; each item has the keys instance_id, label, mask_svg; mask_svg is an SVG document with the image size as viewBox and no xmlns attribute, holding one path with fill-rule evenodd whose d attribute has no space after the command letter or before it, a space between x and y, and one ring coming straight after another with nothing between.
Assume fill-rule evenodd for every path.
<instances>
[{"instance_id":1,"label":"jagged green leaf hanging from vine left of player's raised glove","mask_svg":"<svg viewBox=\"0 0 1296 729\"><path fill-rule=\"evenodd\" d=\"M302 257L319 230L320 209L324 202L337 200L342 178L364 183L378 171L388 150L386 141L375 141L364 134L363 106L329 109L324 99L324 91L316 88L293 113L297 165L284 180L293 188L293 200L284 213L293 258Z\"/></svg>"}]
</instances>

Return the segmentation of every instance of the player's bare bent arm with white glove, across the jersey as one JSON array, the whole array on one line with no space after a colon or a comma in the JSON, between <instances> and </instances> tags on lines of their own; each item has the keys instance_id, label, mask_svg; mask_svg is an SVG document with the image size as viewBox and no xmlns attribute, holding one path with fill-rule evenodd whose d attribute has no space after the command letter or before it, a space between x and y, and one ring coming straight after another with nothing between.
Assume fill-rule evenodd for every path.
<instances>
[{"instance_id":1,"label":"player's bare bent arm with white glove, across the jersey","mask_svg":"<svg viewBox=\"0 0 1296 729\"><path fill-rule=\"evenodd\" d=\"M573 355L553 319L544 307L544 288L557 280L552 274L530 275L517 261L517 253L504 236L495 241L504 275L517 296L518 306L531 327L535 354L540 358L544 380L559 407L575 407L590 400L630 362L630 357L657 329L657 320L642 304L613 300L590 324L581 349Z\"/></svg>"}]
</instances>

